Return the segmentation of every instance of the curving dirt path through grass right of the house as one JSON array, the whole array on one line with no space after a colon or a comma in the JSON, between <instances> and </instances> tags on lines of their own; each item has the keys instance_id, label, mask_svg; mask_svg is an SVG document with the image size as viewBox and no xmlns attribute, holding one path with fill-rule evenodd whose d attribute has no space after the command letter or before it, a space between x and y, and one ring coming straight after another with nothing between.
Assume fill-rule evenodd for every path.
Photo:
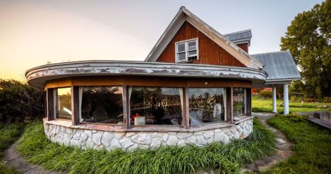
<instances>
[{"instance_id":1,"label":"curving dirt path through grass right of the house","mask_svg":"<svg viewBox=\"0 0 331 174\"><path fill-rule=\"evenodd\" d=\"M292 144L288 139L286 139L285 135L278 131L276 128L270 126L266 123L266 121L273 117L274 114L272 113L253 113L254 117L257 117L264 126L269 128L275 135L276 135L276 148L277 151L274 155L265 157L263 160L259 160L254 162L253 164L249 164L243 168L243 172L250 171L250 172L259 172L264 171L265 169L269 168L270 166L281 162L282 160L288 159L290 155L292 155L292 151L290 146Z\"/></svg>"}]
</instances>

